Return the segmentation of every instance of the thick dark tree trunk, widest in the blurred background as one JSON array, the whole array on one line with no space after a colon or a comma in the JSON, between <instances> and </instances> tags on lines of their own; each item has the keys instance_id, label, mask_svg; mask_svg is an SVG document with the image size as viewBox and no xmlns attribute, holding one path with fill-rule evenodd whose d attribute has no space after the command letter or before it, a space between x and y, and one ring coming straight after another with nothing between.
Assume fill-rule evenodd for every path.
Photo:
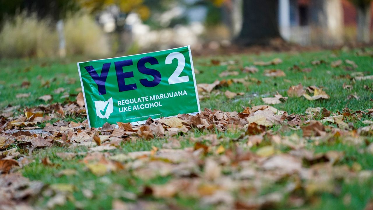
<instances>
[{"instance_id":1,"label":"thick dark tree trunk, widest in the blurred background","mask_svg":"<svg viewBox=\"0 0 373 210\"><path fill-rule=\"evenodd\" d=\"M242 28L236 43L267 45L275 38L280 38L278 0L244 0Z\"/></svg>"}]
</instances>

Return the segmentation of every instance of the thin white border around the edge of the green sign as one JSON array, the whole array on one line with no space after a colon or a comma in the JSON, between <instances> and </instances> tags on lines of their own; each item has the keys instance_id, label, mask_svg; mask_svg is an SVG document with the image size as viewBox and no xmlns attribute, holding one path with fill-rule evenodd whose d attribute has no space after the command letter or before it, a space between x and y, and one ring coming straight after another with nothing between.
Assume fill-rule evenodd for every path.
<instances>
[{"instance_id":1,"label":"thin white border around the edge of the green sign","mask_svg":"<svg viewBox=\"0 0 373 210\"><path fill-rule=\"evenodd\" d=\"M197 81L195 80L195 74L194 74L192 51L190 49L190 45L184 46L184 47L188 47L188 51L189 51L189 60L190 60L190 65L191 65L191 69L192 69L192 76L193 76L194 89L195 89L195 96L196 96L197 105L198 105L198 112L192 112L192 113L187 113L187 114L197 115L198 113L201 113L201 107L200 107L200 99L198 98ZM167 49L167 50L176 50L176 49L181 49L181 48L184 48L184 47L176 47L176 48ZM162 52L162 51L167 51L167 50L159 50L159 51L148 52L148 53L156 53L156 52ZM148 54L148 53L140 53L140 54L135 54L135 55L144 55L144 54ZM119 56L119 57L114 57L114 58L125 58L125 57L128 57L128 56L135 56L135 55L126 55L126 56ZM98 59L98 60L92 60L92 61L101 61L101 60L106 60L106 59L113 59L113 58L104 58L104 59ZM82 86L82 92L83 92L83 98L84 98L84 104L85 104L85 111L87 112L88 126L91 128L92 126L91 126L91 121L90 121L90 115L88 114L87 99L85 99L85 92L84 92L83 80L82 80L82 75L81 75L80 66L79 66L79 64L85 63L85 62L91 62L91 61L77 62L76 64L78 65L79 78L80 78L80 83L81 83L81 86ZM168 117L176 117L176 116L178 116L178 115L173 115L173 116L168 116ZM163 117L163 118L168 118L168 117ZM153 119L153 120L159 120L159 119L160 118L156 118L156 119ZM132 122L131 124L132 125L142 125L142 124L145 124L145 122L146 122L146 120L141 120L141 121ZM116 125L116 126L118 126L118 125Z\"/></svg>"}]
</instances>

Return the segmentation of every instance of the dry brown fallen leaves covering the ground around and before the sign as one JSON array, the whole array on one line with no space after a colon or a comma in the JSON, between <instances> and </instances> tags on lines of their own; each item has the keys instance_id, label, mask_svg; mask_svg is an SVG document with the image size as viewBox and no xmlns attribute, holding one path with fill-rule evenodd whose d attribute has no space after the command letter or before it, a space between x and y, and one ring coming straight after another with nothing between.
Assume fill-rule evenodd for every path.
<instances>
[{"instance_id":1,"label":"dry brown fallen leaves covering the ground around and before the sign","mask_svg":"<svg viewBox=\"0 0 373 210\"><path fill-rule=\"evenodd\" d=\"M297 90L299 89L299 90ZM289 92L303 95L303 88L291 87ZM316 92L318 89L313 89ZM302 93L302 94L301 94ZM316 93L315 93L316 95ZM306 97L307 98L307 97ZM306 149L309 145L329 144L342 139L348 145L369 144L366 136L373 134L373 122L355 129L345 121L372 116L373 109L330 113L325 108L308 108L305 115L288 114L269 105L246 107L242 112L224 112L204 109L200 114L178 115L153 120L144 125L130 123L104 124L99 129L89 128L87 120L81 123L57 121L46 123L55 117L66 115L84 117L81 94L76 102L41 105L24 109L24 114L2 117L0 127L0 201L12 209L39 199L41 192L53 192L47 206L53 208L69 200L73 185L45 186L29 181L17 173L19 168L33 160L32 151L51 146L88 147L88 152L76 154L61 152L60 158L69 160L83 155L82 163L96 176L108 173L130 173L134 177L149 180L158 176L172 179L164 185L146 185L138 194L131 194L137 203L125 204L115 200L113 206L137 207L150 205L141 198L185 197L200 199L203 205L216 205L226 209L262 209L276 207L286 200L286 205L299 207L311 202L319 192L335 192L336 180L368 179L372 171L359 170L339 164L343 152L329 151L315 154ZM263 99L264 100L264 99ZM14 111L14 109L13 109ZM9 115L11 107L3 112ZM45 123L42 132L35 133L37 124ZM325 125L325 123L330 125ZM333 126L335 124L336 126ZM302 130L296 134L280 136L269 128ZM207 131L209 135L195 137L191 130ZM215 132L238 133L238 138L219 137ZM153 146L150 151L128 154L111 154L123 142L136 142L154 138L166 138L162 148ZM185 139L194 146L181 148ZM223 146L229 143L229 146ZM242 148L257 148L245 151ZM17 150L16 148L22 148ZM287 148L287 152L282 152ZM373 144L367 147L373 152ZM42 164L56 167L48 157ZM9 174L10 173L10 174ZM75 170L61 170L60 176L73 176ZM282 191L262 195L263 189L285 182ZM285 198L285 196L288 196ZM143 202L143 203L141 203ZM162 208L160 204L157 208ZM165 207L165 208L169 208Z\"/></svg>"}]
</instances>

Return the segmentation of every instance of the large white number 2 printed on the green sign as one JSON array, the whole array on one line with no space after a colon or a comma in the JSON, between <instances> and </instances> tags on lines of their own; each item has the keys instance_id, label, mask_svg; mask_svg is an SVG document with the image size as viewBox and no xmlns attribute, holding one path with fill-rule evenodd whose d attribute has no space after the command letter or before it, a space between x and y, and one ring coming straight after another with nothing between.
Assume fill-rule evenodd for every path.
<instances>
[{"instance_id":1,"label":"large white number 2 printed on the green sign","mask_svg":"<svg viewBox=\"0 0 373 210\"><path fill-rule=\"evenodd\" d=\"M178 59L178 67L172 73L170 78L168 78L168 84L177 84L177 83L184 83L189 81L188 75L179 77L181 72L184 70L185 67L185 57L183 54L179 52L173 52L167 55L166 57L166 64L172 64L173 59Z\"/></svg>"}]
</instances>

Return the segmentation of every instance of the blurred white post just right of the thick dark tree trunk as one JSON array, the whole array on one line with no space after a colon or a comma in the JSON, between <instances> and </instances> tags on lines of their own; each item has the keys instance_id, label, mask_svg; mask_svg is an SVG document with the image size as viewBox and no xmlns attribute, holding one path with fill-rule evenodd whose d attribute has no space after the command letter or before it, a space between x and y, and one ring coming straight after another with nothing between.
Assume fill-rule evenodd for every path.
<instances>
[{"instance_id":1,"label":"blurred white post just right of the thick dark tree trunk","mask_svg":"<svg viewBox=\"0 0 373 210\"><path fill-rule=\"evenodd\" d=\"M282 38L290 40L290 2L289 0L279 0L279 27Z\"/></svg>"}]
</instances>

